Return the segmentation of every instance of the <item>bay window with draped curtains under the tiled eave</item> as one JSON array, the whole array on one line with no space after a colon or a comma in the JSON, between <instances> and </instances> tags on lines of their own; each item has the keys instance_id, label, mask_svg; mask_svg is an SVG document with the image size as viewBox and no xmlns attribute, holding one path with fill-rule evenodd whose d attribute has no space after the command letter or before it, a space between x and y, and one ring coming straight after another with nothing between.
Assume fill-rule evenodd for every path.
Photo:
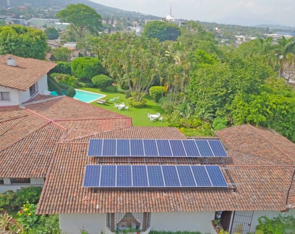
<instances>
[{"instance_id":1,"label":"bay window with draped curtains under the tiled eave","mask_svg":"<svg viewBox=\"0 0 295 234\"><path fill-rule=\"evenodd\" d=\"M150 227L150 213L107 213L106 226L112 231L143 231Z\"/></svg>"}]
</instances>

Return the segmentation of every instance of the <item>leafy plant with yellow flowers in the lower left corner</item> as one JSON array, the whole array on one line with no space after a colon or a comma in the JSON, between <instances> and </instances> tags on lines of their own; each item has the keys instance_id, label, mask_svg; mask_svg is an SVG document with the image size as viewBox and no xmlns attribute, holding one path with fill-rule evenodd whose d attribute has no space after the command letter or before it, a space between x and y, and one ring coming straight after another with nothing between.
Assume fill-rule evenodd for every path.
<instances>
[{"instance_id":1,"label":"leafy plant with yellow flowers in the lower left corner","mask_svg":"<svg viewBox=\"0 0 295 234\"><path fill-rule=\"evenodd\" d=\"M36 209L37 205L27 203L23 205L19 212L17 212L17 215L19 216L18 222L21 223L24 229L30 230L39 224L40 218L35 214Z\"/></svg>"}]
</instances>

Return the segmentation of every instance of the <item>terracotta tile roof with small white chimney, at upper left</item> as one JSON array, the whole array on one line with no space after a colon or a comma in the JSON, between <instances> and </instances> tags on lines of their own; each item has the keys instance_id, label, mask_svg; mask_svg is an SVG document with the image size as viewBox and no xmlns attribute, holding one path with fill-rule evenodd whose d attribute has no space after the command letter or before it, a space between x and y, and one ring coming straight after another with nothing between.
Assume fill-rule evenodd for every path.
<instances>
[{"instance_id":1,"label":"terracotta tile roof with small white chimney, at upper left","mask_svg":"<svg viewBox=\"0 0 295 234\"><path fill-rule=\"evenodd\" d=\"M17 66L8 66L7 58L14 58ZM22 91L36 83L57 64L34 58L22 58L6 54L0 56L0 85Z\"/></svg>"}]
</instances>

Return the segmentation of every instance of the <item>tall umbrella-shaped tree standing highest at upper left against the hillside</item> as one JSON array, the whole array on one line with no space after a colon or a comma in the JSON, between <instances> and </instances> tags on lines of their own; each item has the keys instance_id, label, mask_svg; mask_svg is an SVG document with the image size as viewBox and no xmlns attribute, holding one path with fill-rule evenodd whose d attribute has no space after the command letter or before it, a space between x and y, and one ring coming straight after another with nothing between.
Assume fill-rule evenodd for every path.
<instances>
[{"instance_id":1,"label":"tall umbrella-shaped tree standing highest at upper left against the hillside","mask_svg":"<svg viewBox=\"0 0 295 234\"><path fill-rule=\"evenodd\" d=\"M79 40L85 30L89 30L94 35L102 30L101 15L82 3L68 5L66 9L57 12L56 17L60 18L61 22L69 23L76 31Z\"/></svg>"}]
</instances>

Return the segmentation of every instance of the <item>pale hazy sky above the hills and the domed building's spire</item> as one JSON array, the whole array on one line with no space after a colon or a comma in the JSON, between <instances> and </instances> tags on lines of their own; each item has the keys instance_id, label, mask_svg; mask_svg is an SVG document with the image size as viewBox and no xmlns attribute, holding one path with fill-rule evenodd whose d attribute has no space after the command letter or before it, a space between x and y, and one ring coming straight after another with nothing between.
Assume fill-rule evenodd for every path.
<instances>
[{"instance_id":1,"label":"pale hazy sky above the hills and the domed building's spire","mask_svg":"<svg viewBox=\"0 0 295 234\"><path fill-rule=\"evenodd\" d=\"M295 27L295 0L91 0L109 7L176 19Z\"/></svg>"}]
</instances>

